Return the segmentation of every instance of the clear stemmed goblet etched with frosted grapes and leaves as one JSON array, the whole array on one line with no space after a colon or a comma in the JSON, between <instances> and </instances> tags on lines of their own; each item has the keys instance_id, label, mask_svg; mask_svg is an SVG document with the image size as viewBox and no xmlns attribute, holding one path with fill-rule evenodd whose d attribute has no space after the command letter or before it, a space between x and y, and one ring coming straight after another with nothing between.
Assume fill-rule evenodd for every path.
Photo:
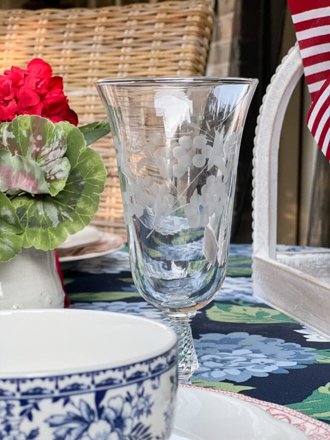
<instances>
[{"instance_id":1,"label":"clear stemmed goblet etched with frosted grapes and leaves","mask_svg":"<svg viewBox=\"0 0 330 440\"><path fill-rule=\"evenodd\" d=\"M133 279L170 318L185 383L198 368L189 320L226 276L239 147L257 80L95 84L117 154Z\"/></svg>"}]
</instances>

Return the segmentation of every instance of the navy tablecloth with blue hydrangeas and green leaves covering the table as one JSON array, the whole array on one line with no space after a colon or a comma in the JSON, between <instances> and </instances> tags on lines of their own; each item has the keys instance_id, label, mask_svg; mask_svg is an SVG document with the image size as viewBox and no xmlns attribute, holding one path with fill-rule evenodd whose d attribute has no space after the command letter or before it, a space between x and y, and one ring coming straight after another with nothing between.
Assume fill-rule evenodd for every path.
<instances>
[{"instance_id":1,"label":"navy tablecloth with blue hydrangeas and green leaves covering the table","mask_svg":"<svg viewBox=\"0 0 330 440\"><path fill-rule=\"evenodd\" d=\"M250 245L230 247L220 292L192 319L200 368L191 382L278 403L330 424L330 342L252 296L251 253ZM62 263L62 269L71 308L166 322L137 292L127 251Z\"/></svg>"}]
</instances>

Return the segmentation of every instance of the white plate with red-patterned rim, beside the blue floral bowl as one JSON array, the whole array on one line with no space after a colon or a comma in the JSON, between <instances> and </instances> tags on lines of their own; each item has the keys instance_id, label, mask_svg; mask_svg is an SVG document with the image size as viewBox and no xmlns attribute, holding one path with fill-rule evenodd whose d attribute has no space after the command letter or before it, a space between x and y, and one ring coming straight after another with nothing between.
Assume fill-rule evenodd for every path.
<instances>
[{"instance_id":1,"label":"white plate with red-patterned rim, beside the blue floral bowl","mask_svg":"<svg viewBox=\"0 0 330 440\"><path fill-rule=\"evenodd\" d=\"M226 391L180 386L170 440L330 438L330 426L275 403Z\"/></svg>"}]
</instances>

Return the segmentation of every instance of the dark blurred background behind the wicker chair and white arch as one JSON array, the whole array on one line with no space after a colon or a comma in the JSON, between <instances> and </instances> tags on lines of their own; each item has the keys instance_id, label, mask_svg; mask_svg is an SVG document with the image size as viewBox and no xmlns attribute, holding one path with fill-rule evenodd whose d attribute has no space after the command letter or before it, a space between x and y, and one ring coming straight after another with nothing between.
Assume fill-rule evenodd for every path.
<instances>
[{"instance_id":1,"label":"dark blurred background behind the wicker chair and white arch","mask_svg":"<svg viewBox=\"0 0 330 440\"><path fill-rule=\"evenodd\" d=\"M97 8L132 0L1 0L1 9ZM283 56L295 43L286 0L210 0L215 11L206 75L254 77L259 85L239 159L232 243L252 242L252 149L262 96ZM304 78L282 127L278 175L277 242L330 247L330 165L305 120L311 102Z\"/></svg>"}]
</instances>

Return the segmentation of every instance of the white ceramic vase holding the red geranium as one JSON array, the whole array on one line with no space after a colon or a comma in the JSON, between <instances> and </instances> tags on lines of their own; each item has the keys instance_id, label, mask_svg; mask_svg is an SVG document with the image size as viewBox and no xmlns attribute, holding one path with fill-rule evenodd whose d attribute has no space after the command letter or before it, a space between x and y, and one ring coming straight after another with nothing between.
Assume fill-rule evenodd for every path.
<instances>
[{"instance_id":1,"label":"white ceramic vase holding the red geranium","mask_svg":"<svg viewBox=\"0 0 330 440\"><path fill-rule=\"evenodd\" d=\"M22 249L12 260L0 263L0 310L63 306L54 251Z\"/></svg>"}]
</instances>

